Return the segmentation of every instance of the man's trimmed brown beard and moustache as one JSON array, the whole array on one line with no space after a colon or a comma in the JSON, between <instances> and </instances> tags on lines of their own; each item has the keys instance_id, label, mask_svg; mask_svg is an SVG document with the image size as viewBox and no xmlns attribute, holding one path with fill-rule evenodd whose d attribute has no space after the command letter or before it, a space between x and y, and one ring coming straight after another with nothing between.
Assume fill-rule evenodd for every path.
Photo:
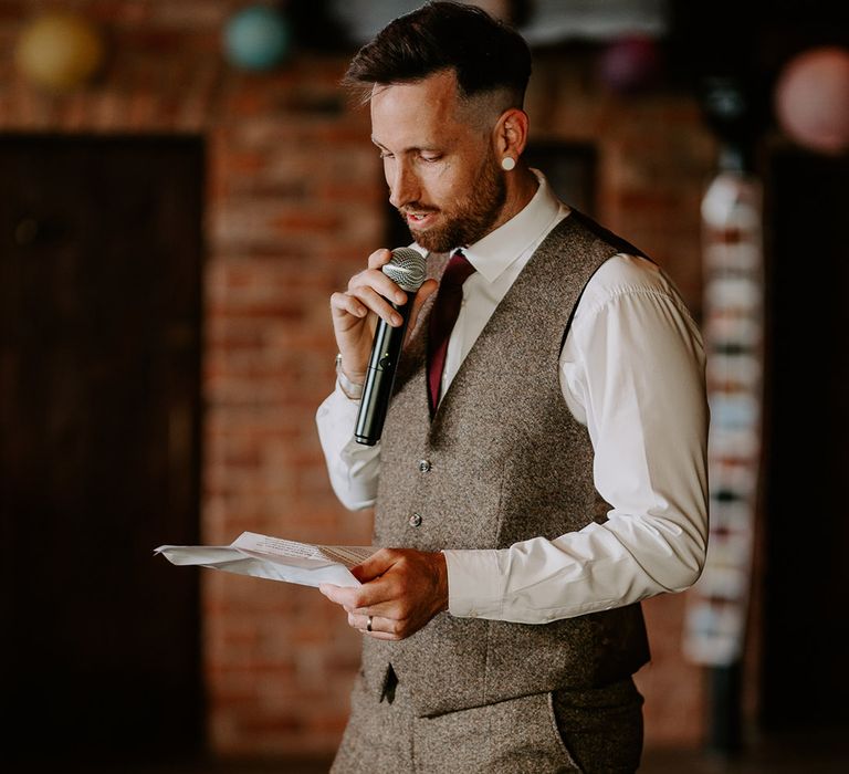
<instances>
[{"instance_id":1,"label":"man's trimmed brown beard and moustache","mask_svg":"<svg viewBox=\"0 0 849 774\"><path fill-rule=\"evenodd\" d=\"M474 244L492 231L506 198L507 187L495 164L495 155L490 150L478 170L469 195L450 209L412 202L400 208L399 212L402 218L406 209L440 212L443 217L441 224L429 229L410 229L410 236L429 252L449 252L453 248Z\"/></svg>"}]
</instances>

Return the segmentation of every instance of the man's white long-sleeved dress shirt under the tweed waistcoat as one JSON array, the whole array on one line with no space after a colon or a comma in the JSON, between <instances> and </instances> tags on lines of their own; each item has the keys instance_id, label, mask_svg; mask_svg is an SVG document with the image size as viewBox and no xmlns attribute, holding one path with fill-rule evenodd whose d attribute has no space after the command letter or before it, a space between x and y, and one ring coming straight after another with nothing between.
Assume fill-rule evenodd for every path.
<instances>
[{"instance_id":1,"label":"man's white long-sleeved dress shirt under the tweed waistcoat","mask_svg":"<svg viewBox=\"0 0 849 774\"><path fill-rule=\"evenodd\" d=\"M463 285L442 394L534 250L569 216L536 174L525 209L463 249L476 271ZM608 521L502 550L444 546L451 615L542 624L683 590L699 577L708 541L704 353L663 271L633 255L606 261L578 303L559 366L566 405L593 442ZM348 395L357 388L342 387L318 408L322 448L339 500L370 508L380 444L354 441L359 401Z\"/></svg>"}]
</instances>

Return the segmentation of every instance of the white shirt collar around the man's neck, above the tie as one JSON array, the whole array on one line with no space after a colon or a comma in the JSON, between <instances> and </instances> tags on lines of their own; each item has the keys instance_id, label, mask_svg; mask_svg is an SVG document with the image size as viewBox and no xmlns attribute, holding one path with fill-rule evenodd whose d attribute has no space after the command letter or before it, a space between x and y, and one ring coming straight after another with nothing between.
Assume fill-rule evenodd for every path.
<instances>
[{"instance_id":1,"label":"white shirt collar around the man's neck, above the tie","mask_svg":"<svg viewBox=\"0 0 849 774\"><path fill-rule=\"evenodd\" d=\"M488 283L495 282L511 263L537 243L560 212L560 202L545 176L536 169L532 171L539 187L524 209L483 239L463 248L463 254Z\"/></svg>"}]
</instances>

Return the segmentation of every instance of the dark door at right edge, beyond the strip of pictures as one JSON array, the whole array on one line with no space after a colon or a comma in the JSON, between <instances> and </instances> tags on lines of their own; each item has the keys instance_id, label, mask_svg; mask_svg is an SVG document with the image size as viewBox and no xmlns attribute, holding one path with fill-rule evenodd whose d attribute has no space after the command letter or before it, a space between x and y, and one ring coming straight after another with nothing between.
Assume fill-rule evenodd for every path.
<instances>
[{"instance_id":1,"label":"dark door at right edge, beyond the strip of pictures","mask_svg":"<svg viewBox=\"0 0 849 774\"><path fill-rule=\"evenodd\" d=\"M769 165L762 710L784 733L849 721L847 181L846 156Z\"/></svg>"}]
</instances>

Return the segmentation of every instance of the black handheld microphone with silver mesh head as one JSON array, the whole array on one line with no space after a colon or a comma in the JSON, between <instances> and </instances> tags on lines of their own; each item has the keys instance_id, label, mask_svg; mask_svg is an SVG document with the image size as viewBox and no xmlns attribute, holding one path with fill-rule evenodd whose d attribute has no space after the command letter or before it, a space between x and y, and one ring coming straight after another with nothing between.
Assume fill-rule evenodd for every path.
<instances>
[{"instance_id":1,"label":"black handheld microphone with silver mesh head","mask_svg":"<svg viewBox=\"0 0 849 774\"><path fill-rule=\"evenodd\" d=\"M354 431L357 443L375 446L380 440L389 398L392 395L401 344L407 333L407 324L410 322L412 301L421 283L424 282L424 257L418 251L412 248L397 248L392 250L389 263L382 268L384 274L407 293L407 303L389 302L403 321L398 327L392 327L385 320L377 321L375 343L371 345L371 356L368 358L363 399Z\"/></svg>"}]
</instances>

